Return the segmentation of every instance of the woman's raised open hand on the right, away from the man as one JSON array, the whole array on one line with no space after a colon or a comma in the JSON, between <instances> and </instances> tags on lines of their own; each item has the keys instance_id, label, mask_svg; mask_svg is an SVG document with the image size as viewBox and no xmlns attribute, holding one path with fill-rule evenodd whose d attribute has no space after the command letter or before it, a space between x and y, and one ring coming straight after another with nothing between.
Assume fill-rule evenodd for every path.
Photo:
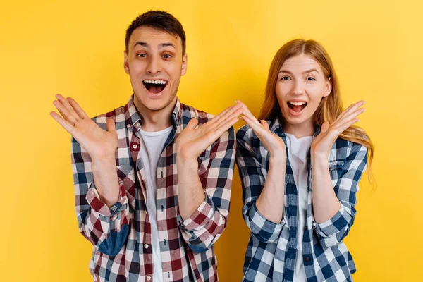
<instances>
[{"instance_id":1,"label":"woman's raised open hand on the right, away from the man","mask_svg":"<svg viewBox=\"0 0 423 282\"><path fill-rule=\"evenodd\" d=\"M312 142L312 158L326 159L327 161L329 152L331 152L333 143L338 136L351 125L360 121L357 116L366 111L364 108L361 108L364 104L366 104L364 101L352 104L336 118L335 122L329 124L326 121L321 125L320 134Z\"/></svg>"}]
</instances>

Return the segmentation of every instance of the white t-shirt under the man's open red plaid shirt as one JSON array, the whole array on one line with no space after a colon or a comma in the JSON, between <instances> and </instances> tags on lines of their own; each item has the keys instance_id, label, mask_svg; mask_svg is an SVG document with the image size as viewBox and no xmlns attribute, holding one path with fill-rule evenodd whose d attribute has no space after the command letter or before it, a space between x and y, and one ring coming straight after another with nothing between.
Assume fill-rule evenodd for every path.
<instances>
[{"instance_id":1,"label":"white t-shirt under the man's open red plaid shirt","mask_svg":"<svg viewBox=\"0 0 423 282\"><path fill-rule=\"evenodd\" d=\"M152 226L152 252L153 252L153 277L154 282L163 282L163 269L161 267L161 252L159 242L159 232L157 230L157 209L156 209L156 175L157 164L164 144L172 126L156 132L140 130L141 149L140 158L145 171L145 183L147 185L147 212Z\"/></svg>"}]
</instances>

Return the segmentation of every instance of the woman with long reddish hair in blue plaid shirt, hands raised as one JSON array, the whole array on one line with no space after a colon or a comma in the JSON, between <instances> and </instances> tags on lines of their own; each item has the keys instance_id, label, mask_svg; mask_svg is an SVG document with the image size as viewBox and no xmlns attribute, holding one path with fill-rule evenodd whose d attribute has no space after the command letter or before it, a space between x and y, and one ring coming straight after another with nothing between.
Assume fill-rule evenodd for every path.
<instances>
[{"instance_id":1,"label":"woman with long reddish hair in blue plaid shirt, hands raised","mask_svg":"<svg viewBox=\"0 0 423 282\"><path fill-rule=\"evenodd\" d=\"M239 102L240 103L240 102ZM250 228L243 281L353 281L343 243L373 145L343 111L329 55L313 40L283 45L271 63L259 121L243 106L237 133L243 215Z\"/></svg>"}]
</instances>

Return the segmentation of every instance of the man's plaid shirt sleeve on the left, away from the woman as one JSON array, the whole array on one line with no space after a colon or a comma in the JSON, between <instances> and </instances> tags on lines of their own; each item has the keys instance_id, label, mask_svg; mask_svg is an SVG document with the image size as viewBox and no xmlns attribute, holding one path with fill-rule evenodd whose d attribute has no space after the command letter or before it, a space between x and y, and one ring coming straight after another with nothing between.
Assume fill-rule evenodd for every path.
<instances>
[{"instance_id":1,"label":"man's plaid shirt sleeve on the left, away from the woman","mask_svg":"<svg viewBox=\"0 0 423 282\"><path fill-rule=\"evenodd\" d=\"M129 233L129 207L125 186L119 179L118 202L111 208L99 198L91 169L91 157L72 138L72 170L75 185L75 212L80 233L99 252L117 255Z\"/></svg>"}]
</instances>

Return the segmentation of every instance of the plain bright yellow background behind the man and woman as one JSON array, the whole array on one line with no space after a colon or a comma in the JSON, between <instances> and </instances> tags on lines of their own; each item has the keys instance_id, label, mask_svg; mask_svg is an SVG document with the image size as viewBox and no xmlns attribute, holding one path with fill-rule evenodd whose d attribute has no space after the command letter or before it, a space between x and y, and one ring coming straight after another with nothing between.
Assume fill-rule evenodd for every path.
<instances>
[{"instance_id":1,"label":"plain bright yellow background behind the man and woman","mask_svg":"<svg viewBox=\"0 0 423 282\"><path fill-rule=\"evenodd\" d=\"M360 124L376 145L379 186L374 192L363 178L345 240L353 278L421 281L423 6L318 2L2 0L0 281L90 281L92 247L73 208L71 137L49 111L56 93L90 116L127 102L125 29L150 8L183 24L188 73L178 96L212 114L241 99L257 116L276 50L297 37L324 44L344 104L367 100ZM241 197L237 170L228 228L216 244L223 282L242 278L249 233Z\"/></svg>"}]
</instances>

